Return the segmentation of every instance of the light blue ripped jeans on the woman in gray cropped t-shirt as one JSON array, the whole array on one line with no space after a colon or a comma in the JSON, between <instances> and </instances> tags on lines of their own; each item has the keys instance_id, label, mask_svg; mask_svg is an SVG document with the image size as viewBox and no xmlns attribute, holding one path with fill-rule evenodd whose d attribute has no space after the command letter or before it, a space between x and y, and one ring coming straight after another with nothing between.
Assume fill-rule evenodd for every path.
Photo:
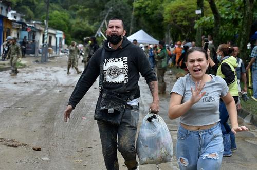
<instances>
[{"instance_id":1,"label":"light blue ripped jeans on the woman in gray cropped t-shirt","mask_svg":"<svg viewBox=\"0 0 257 170\"><path fill-rule=\"evenodd\" d=\"M189 131L179 126L176 150L179 169L220 169L223 138L219 123L200 131Z\"/></svg>"}]
</instances>

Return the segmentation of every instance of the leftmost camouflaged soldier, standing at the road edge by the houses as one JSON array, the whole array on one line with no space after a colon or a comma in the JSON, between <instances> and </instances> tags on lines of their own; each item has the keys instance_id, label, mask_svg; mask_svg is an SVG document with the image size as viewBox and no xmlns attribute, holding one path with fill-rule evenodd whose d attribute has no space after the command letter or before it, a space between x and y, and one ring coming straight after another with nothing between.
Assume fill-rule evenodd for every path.
<instances>
[{"instance_id":1,"label":"leftmost camouflaged soldier, standing at the road edge by the houses","mask_svg":"<svg viewBox=\"0 0 257 170\"><path fill-rule=\"evenodd\" d=\"M21 58L21 56L22 56L21 47L20 47L20 45L17 45L16 42L17 42L17 38L15 38L15 37L12 38L12 44L7 53L7 56L8 55L10 56L10 64L11 64L11 69L12 69L11 76L15 76L19 72L17 70L16 63L17 63L18 58Z\"/></svg>"}]
</instances>

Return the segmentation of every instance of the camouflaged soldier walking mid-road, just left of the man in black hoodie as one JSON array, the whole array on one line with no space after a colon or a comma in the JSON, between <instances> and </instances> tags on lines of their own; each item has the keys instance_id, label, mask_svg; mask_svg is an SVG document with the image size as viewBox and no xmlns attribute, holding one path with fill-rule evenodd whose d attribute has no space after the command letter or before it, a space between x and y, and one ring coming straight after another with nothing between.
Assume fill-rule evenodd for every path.
<instances>
[{"instance_id":1,"label":"camouflaged soldier walking mid-road, just left of the man in black hoodie","mask_svg":"<svg viewBox=\"0 0 257 170\"><path fill-rule=\"evenodd\" d=\"M80 74L82 71L78 69L78 56L79 56L79 49L76 46L75 41L71 41L71 45L69 46L69 60L68 60L68 71L67 74L70 74L69 69L70 67L74 67L77 71L77 74Z\"/></svg>"}]
</instances>

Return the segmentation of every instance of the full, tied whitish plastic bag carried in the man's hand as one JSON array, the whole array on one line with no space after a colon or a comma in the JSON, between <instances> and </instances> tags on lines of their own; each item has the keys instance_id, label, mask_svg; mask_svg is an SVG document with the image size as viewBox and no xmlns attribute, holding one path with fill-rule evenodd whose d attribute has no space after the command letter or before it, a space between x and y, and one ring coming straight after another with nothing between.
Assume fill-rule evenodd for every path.
<instances>
[{"instance_id":1,"label":"full, tied whitish plastic bag carried in the man's hand","mask_svg":"<svg viewBox=\"0 0 257 170\"><path fill-rule=\"evenodd\" d=\"M147 119L154 114L148 113L141 124L136 148L140 165L171 162L173 155L172 140L164 120L155 115L151 122Z\"/></svg>"}]
</instances>

